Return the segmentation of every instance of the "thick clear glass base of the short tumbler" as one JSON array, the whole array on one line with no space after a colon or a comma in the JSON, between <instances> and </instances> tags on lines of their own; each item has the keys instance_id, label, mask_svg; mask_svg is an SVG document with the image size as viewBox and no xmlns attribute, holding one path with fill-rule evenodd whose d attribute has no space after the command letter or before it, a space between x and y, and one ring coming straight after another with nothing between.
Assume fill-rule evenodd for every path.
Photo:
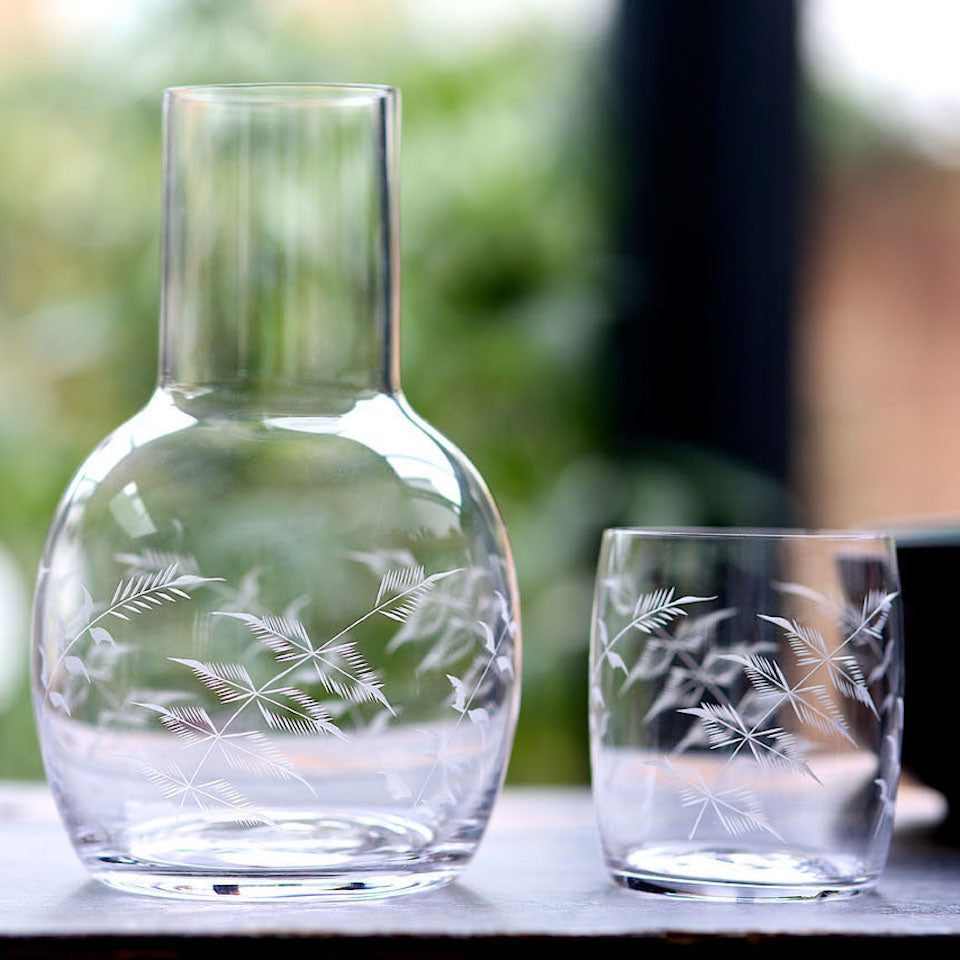
<instances>
[{"instance_id":1,"label":"thick clear glass base of the short tumbler","mask_svg":"<svg viewBox=\"0 0 960 960\"><path fill-rule=\"evenodd\" d=\"M696 900L824 900L876 883L842 858L723 846L642 847L609 867L617 883L632 890Z\"/></svg>"}]
</instances>

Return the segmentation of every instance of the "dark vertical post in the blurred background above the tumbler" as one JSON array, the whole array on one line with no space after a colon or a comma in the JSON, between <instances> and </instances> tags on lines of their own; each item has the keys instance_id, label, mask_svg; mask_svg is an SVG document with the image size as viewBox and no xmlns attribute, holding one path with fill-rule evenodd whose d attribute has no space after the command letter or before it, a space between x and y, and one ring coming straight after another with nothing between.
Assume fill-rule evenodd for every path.
<instances>
[{"instance_id":1,"label":"dark vertical post in the blurred background above the tumbler","mask_svg":"<svg viewBox=\"0 0 960 960\"><path fill-rule=\"evenodd\" d=\"M791 0L621 4L621 453L676 442L787 479L795 34Z\"/></svg>"}]
</instances>

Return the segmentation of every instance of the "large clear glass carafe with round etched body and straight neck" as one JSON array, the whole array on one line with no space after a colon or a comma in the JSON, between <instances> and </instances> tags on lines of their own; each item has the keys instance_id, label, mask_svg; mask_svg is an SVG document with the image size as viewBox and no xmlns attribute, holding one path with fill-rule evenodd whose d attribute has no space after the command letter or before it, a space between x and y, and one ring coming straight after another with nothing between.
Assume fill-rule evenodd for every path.
<instances>
[{"instance_id":1,"label":"large clear glass carafe with round etched body and straight neck","mask_svg":"<svg viewBox=\"0 0 960 960\"><path fill-rule=\"evenodd\" d=\"M159 383L71 482L36 591L63 821L128 891L444 883L503 781L519 611L481 478L400 390L398 95L164 108Z\"/></svg>"}]
</instances>

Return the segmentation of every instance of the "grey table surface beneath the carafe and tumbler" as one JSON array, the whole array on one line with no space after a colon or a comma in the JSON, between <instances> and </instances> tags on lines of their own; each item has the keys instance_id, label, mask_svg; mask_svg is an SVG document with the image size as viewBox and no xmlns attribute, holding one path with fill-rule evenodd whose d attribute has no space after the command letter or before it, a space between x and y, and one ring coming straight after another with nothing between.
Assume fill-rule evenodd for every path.
<instances>
[{"instance_id":1,"label":"grey table surface beneath the carafe and tumbler","mask_svg":"<svg viewBox=\"0 0 960 960\"><path fill-rule=\"evenodd\" d=\"M285 956L297 944L312 945L316 956L318 940L329 947L334 938L352 957L510 953L511 945L527 949L530 938L639 937L662 947L745 937L747 945L783 947L819 937L909 937L929 946L960 938L960 850L926 838L921 828L937 808L928 794L921 788L910 809L898 811L878 891L847 900L704 903L625 890L603 866L587 790L513 788L454 884L356 904L256 904L109 890L87 878L45 788L7 784L0 786L0 957L63 955L78 944L89 948L84 955L131 956L143 948L178 956L189 953L180 949L186 944L209 947L210 938L224 937L282 937ZM487 951L477 952L477 944Z\"/></svg>"}]
</instances>

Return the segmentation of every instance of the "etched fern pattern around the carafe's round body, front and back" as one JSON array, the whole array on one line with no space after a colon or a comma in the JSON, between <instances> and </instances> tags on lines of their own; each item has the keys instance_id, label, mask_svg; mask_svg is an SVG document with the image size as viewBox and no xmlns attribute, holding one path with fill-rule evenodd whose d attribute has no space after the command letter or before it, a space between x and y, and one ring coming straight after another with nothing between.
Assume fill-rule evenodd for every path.
<instances>
[{"instance_id":1,"label":"etched fern pattern around the carafe's round body, front and back","mask_svg":"<svg viewBox=\"0 0 960 960\"><path fill-rule=\"evenodd\" d=\"M279 749L277 737L346 741L360 729L380 732L398 716L383 680L361 649L361 628L375 618L397 625L385 647L387 656L427 641L418 669L439 674L448 685L448 708L456 715L444 734L424 731L426 775L411 783L396 770L382 770L384 791L394 801L438 813L445 803L456 802L458 780L477 773L472 761L458 752L456 734L466 722L485 735L490 716L481 704L482 691L492 675L512 676L507 644L516 632L505 596L487 589L488 573L465 568L427 575L406 552L370 555L367 566L376 568L379 576L371 606L331 636L317 638L298 616L309 598L294 598L282 614L273 614L260 601L257 571L234 587L222 578L202 576L192 555L144 550L119 553L115 559L123 575L108 603L94 604L87 590L75 585L79 609L69 622L57 624L57 654L49 667L40 651L41 685L50 706L70 715L72 706L84 699L81 688L97 683L109 701L98 723L153 723L171 734L181 751L176 758L122 758L166 801L238 824L272 825L270 816L223 775L224 768L291 781L316 795L307 777ZM193 656L166 660L189 671L219 704L217 710L209 701L192 698L188 689L142 690L125 701L118 698L111 692L111 674L130 647L109 632L110 621L132 624L156 616L165 606L189 600L199 587L215 594L216 602L207 609L217 608L196 617L194 631L206 635L210 625L233 621L253 648L266 652L272 668L257 670L263 658L248 656L250 647L242 659L229 661L202 659L194 648ZM86 648L83 656L81 645ZM466 669L451 672L465 657ZM64 677L76 681L72 688L65 686ZM380 709L372 716L368 711L359 719L351 717L348 733L343 718L364 705Z\"/></svg>"}]
</instances>

